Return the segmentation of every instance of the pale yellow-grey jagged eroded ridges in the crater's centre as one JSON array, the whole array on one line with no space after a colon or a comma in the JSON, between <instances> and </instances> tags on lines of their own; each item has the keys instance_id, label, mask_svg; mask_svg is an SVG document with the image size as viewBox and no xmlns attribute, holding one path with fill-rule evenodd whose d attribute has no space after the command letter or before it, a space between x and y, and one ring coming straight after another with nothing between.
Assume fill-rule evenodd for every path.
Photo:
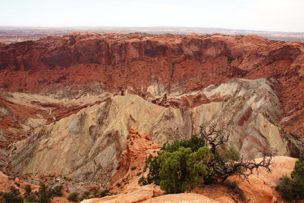
<instances>
[{"instance_id":1,"label":"pale yellow-grey jagged eroded ridges in the crater's centre","mask_svg":"<svg viewBox=\"0 0 304 203\"><path fill-rule=\"evenodd\" d=\"M134 94L57 100L5 93L5 101L36 112L20 125L33 130L12 145L16 151L10 152L8 161L16 175L56 173L78 180L101 179L105 184L116 172L131 126L162 145L189 138L198 132L195 124L216 119L219 128L230 132L226 147L235 147L245 157L258 158L264 146L276 149L277 155L290 156L302 143L275 124L280 114L277 86L271 79L233 79L188 94L167 95L167 103L180 104L179 108L162 107Z\"/></svg>"}]
</instances>

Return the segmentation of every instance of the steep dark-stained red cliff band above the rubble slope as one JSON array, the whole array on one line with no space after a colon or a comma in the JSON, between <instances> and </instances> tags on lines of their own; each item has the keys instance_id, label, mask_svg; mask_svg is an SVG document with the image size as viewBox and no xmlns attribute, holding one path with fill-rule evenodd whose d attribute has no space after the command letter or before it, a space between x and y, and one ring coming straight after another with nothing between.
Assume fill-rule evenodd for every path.
<instances>
[{"instance_id":1,"label":"steep dark-stained red cliff band above the rubble slope","mask_svg":"<svg viewBox=\"0 0 304 203\"><path fill-rule=\"evenodd\" d=\"M63 37L47 36L40 41L2 45L0 68L27 71L85 63L115 65L136 60L149 61L157 57L180 63L186 58L197 60L222 56L242 58L241 62L249 59L249 62L254 60L269 65L278 60L295 60L301 54L302 47L300 42L275 43L256 35L130 36L74 32Z\"/></svg>"}]
</instances>

